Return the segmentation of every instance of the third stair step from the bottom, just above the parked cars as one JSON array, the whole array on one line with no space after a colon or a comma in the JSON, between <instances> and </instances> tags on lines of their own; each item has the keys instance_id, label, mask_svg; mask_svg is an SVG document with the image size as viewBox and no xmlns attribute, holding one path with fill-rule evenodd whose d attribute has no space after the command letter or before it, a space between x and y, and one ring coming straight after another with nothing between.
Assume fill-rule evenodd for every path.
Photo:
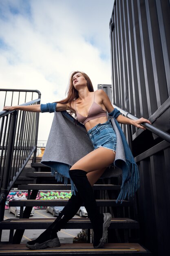
<instances>
[{"instance_id":1,"label":"third stair step from the bottom, just above the parked cars","mask_svg":"<svg viewBox=\"0 0 170 256\"><path fill-rule=\"evenodd\" d=\"M13 200L9 206L65 206L68 200ZM128 207L129 201L123 200L116 203L116 200L96 200L97 206Z\"/></svg>"}]
</instances>

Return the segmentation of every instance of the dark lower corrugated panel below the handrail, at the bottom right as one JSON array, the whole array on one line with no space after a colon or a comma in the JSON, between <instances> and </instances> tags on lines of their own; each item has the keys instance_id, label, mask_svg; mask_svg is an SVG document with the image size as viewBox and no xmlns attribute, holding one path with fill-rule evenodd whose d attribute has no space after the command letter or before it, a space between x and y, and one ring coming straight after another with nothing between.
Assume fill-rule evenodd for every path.
<instances>
[{"instance_id":1,"label":"dark lower corrugated panel below the handrail, at the bottom right","mask_svg":"<svg viewBox=\"0 0 170 256\"><path fill-rule=\"evenodd\" d=\"M168 255L170 241L170 144L162 141L136 157L141 242L155 256Z\"/></svg>"}]
</instances>

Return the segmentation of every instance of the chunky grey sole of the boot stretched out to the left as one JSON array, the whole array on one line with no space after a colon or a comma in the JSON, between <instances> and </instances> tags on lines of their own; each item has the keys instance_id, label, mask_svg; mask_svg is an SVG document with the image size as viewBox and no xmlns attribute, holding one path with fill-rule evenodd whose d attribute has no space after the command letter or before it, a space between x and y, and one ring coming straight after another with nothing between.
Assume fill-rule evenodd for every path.
<instances>
[{"instance_id":1,"label":"chunky grey sole of the boot stretched out to the left","mask_svg":"<svg viewBox=\"0 0 170 256\"><path fill-rule=\"evenodd\" d=\"M39 250L44 249L46 247L60 247L60 241L58 238L54 238L48 241L45 241L44 243L35 243L34 245L26 244L26 247L32 250Z\"/></svg>"}]
</instances>

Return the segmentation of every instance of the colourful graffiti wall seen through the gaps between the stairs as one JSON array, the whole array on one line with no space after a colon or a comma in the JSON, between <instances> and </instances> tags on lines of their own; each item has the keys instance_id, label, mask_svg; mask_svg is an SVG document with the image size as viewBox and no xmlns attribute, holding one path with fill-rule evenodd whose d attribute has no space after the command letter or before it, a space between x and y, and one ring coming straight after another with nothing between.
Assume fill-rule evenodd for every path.
<instances>
[{"instance_id":1,"label":"colourful graffiti wall seen through the gaps between the stairs","mask_svg":"<svg viewBox=\"0 0 170 256\"><path fill-rule=\"evenodd\" d=\"M28 196L27 191L16 191L11 190L7 196L7 202L5 204L5 209L9 209L9 201L26 199ZM57 200L63 199L68 200L71 198L71 191L39 191L36 200ZM44 209L46 207L34 207L35 209Z\"/></svg>"}]
</instances>

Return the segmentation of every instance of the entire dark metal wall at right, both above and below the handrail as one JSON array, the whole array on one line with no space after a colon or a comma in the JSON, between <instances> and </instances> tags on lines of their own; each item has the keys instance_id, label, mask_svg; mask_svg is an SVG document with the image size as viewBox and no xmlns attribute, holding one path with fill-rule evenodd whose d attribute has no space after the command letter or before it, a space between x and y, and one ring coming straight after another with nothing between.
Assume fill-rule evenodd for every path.
<instances>
[{"instance_id":1,"label":"entire dark metal wall at right, both above and below the handrail","mask_svg":"<svg viewBox=\"0 0 170 256\"><path fill-rule=\"evenodd\" d=\"M115 0L110 19L112 103L170 132L170 0ZM127 135L127 126L123 127ZM141 243L167 255L170 241L170 145L132 127L141 175Z\"/></svg>"}]
</instances>

